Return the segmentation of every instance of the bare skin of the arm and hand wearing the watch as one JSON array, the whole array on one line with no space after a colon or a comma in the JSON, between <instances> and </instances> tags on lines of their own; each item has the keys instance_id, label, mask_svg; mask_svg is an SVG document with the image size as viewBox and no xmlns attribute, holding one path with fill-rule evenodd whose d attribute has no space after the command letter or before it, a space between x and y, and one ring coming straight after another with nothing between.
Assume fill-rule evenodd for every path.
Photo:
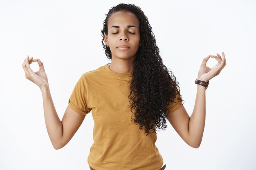
<instances>
[{"instance_id":1,"label":"bare skin of the arm and hand wearing the watch","mask_svg":"<svg viewBox=\"0 0 256 170\"><path fill-rule=\"evenodd\" d=\"M218 61L212 68L206 66L210 57L215 58ZM208 55L202 61L197 79L208 82L216 75L219 75L226 64L226 56L224 52L222 52L222 57L218 53L217 56ZM189 117L189 114L186 112L183 105L167 117L168 121L180 137L193 148L199 148L203 137L205 125L205 90L206 88L204 86L197 85L195 106L191 117Z\"/></svg>"}]
</instances>

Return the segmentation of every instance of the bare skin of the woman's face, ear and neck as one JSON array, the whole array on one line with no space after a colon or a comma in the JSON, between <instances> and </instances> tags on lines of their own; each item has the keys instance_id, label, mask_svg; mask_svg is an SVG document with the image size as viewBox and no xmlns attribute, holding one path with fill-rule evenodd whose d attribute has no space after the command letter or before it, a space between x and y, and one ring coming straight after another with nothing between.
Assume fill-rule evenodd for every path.
<instances>
[{"instance_id":1,"label":"bare skin of the woman's face, ear and neck","mask_svg":"<svg viewBox=\"0 0 256 170\"><path fill-rule=\"evenodd\" d=\"M113 26L119 26L119 28ZM104 34L103 38L112 54L110 69L117 73L131 73L133 68L132 61L135 60L135 54L139 49L139 45L141 45L139 20L136 15L123 10L112 13L108 19L108 35ZM130 48L117 48L122 44Z\"/></svg>"}]
</instances>

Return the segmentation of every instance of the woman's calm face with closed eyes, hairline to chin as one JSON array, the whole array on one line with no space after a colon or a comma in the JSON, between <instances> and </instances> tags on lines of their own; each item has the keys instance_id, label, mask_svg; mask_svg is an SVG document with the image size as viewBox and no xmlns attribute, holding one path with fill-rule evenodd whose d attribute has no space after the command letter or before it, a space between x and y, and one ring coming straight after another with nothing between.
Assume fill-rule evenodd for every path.
<instances>
[{"instance_id":1,"label":"woman's calm face with closed eyes, hairline to chin","mask_svg":"<svg viewBox=\"0 0 256 170\"><path fill-rule=\"evenodd\" d=\"M135 58L139 49L139 20L128 11L117 11L108 19L108 35L104 34L104 42L109 46L112 59ZM126 45L128 48L118 47Z\"/></svg>"}]
</instances>

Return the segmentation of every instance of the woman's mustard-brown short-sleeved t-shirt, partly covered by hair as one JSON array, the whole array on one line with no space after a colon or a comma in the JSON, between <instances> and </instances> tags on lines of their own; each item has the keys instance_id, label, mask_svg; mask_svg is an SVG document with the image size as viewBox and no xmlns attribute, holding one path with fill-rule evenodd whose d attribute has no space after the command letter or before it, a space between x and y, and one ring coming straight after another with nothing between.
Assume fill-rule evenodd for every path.
<instances>
[{"instance_id":1,"label":"woman's mustard-brown short-sleeved t-shirt, partly covered by hair","mask_svg":"<svg viewBox=\"0 0 256 170\"><path fill-rule=\"evenodd\" d=\"M163 158L155 146L157 134L148 136L131 117L128 82L132 73L117 73L108 64L84 73L68 101L81 115L92 111L93 141L88 164L96 170L160 169ZM177 102L177 97L175 98ZM171 103L170 113L182 102Z\"/></svg>"}]
</instances>

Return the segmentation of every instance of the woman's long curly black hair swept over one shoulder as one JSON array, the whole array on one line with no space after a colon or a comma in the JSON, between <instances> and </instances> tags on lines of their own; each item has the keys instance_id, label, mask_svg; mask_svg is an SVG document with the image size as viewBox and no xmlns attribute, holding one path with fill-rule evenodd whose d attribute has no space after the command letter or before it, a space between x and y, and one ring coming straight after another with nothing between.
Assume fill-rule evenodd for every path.
<instances>
[{"instance_id":1,"label":"woman's long curly black hair swept over one shoulder","mask_svg":"<svg viewBox=\"0 0 256 170\"><path fill-rule=\"evenodd\" d=\"M121 3L108 11L106 19L103 21L102 38L104 34L108 35L110 15L120 10L129 11L137 16L142 43L136 53L135 60L132 62L132 79L129 82L130 109L131 111L135 110L135 113L132 111L135 119L131 119L135 124L139 124L139 129L145 128L146 135L150 133L151 129L156 133L156 128L162 130L167 128L166 119L170 113L167 106L175 102L174 99L177 96L179 102L183 101L182 95L180 95L179 82L176 82L176 77L172 71L169 71L163 64L148 18L135 4ZM106 56L112 59L109 46L104 44L104 38L101 42Z\"/></svg>"}]
</instances>

